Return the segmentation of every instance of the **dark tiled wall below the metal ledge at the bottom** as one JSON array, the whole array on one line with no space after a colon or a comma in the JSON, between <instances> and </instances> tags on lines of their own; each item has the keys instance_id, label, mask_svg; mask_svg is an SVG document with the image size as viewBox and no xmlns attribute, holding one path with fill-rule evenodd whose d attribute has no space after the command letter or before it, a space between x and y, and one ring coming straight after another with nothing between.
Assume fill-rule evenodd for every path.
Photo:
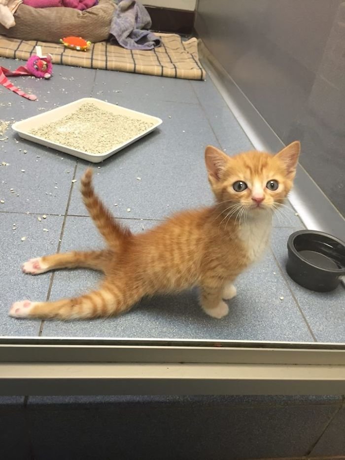
<instances>
[{"instance_id":1,"label":"dark tiled wall below the metal ledge at the bottom","mask_svg":"<svg viewBox=\"0 0 345 460\"><path fill-rule=\"evenodd\" d=\"M30 396L0 403L6 460L345 455L337 396Z\"/></svg>"}]
</instances>

